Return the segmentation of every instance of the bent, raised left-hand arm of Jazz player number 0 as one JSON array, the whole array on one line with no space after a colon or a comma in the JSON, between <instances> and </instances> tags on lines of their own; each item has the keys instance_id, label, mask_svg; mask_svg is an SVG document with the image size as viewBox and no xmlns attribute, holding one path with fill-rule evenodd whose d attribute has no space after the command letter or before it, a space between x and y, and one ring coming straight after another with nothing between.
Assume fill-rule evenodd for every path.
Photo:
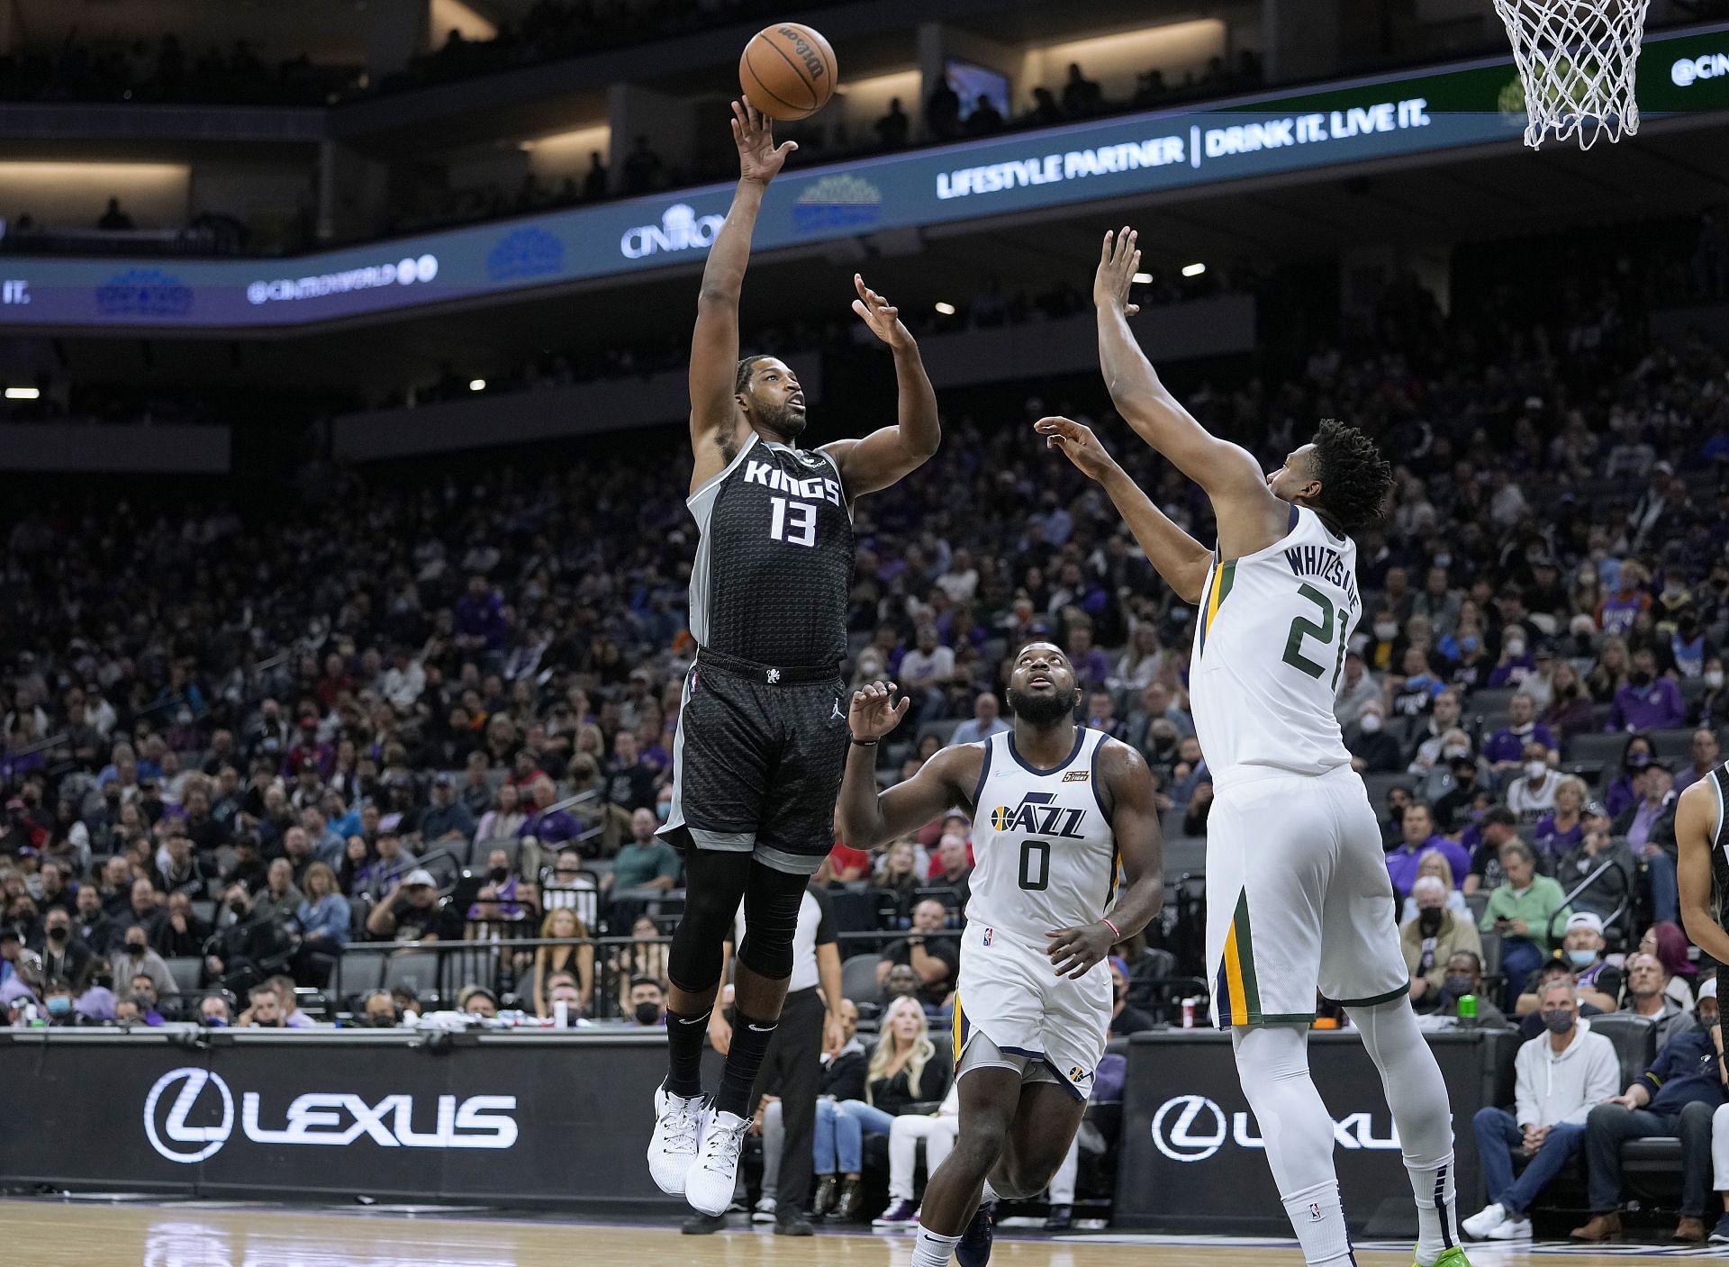
<instances>
[{"instance_id":1,"label":"bent, raised left-hand arm of Jazz player number 0","mask_svg":"<svg viewBox=\"0 0 1729 1267\"><path fill-rule=\"evenodd\" d=\"M894 704L894 683L871 683L852 691L847 728L852 747L840 780L840 838L852 849L871 849L916 831L946 809L972 800L984 755L963 745L942 748L904 783L877 792L877 740L901 724L908 698Z\"/></svg>"}]
</instances>

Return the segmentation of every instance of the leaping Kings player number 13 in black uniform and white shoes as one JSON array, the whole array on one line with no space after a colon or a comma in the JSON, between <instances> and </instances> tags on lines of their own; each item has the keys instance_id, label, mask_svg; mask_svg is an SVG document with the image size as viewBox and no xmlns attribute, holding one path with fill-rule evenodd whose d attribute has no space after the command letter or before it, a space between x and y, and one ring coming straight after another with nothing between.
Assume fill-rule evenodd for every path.
<instances>
[{"instance_id":1,"label":"leaping Kings player number 13 in black uniform and white shoes","mask_svg":"<svg viewBox=\"0 0 1729 1267\"><path fill-rule=\"evenodd\" d=\"M852 586L852 503L937 451L937 399L913 335L854 275L852 311L894 353L899 423L801 449L799 375L773 356L738 358L738 290L750 232L794 142L733 102L738 188L714 237L690 344L690 512L702 532L690 572L697 662L685 679L673 809L662 828L685 852L685 916L667 977L671 1070L655 1092L648 1168L705 1215L733 1198L750 1125L750 1084L780 1020L804 885L833 847L847 752L840 660ZM702 1041L721 944L743 901L749 933L733 978L731 1047L712 1103ZM839 1018L828 1023L839 1035ZM782 1205L797 1203L782 1193ZM782 1231L776 1226L776 1231Z\"/></svg>"}]
</instances>

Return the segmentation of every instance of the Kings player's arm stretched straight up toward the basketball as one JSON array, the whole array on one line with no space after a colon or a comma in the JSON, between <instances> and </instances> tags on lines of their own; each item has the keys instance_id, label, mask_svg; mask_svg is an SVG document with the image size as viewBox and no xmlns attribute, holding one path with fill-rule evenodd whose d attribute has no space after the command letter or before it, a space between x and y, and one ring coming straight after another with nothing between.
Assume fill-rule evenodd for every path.
<instances>
[{"instance_id":1,"label":"Kings player's arm stretched straight up toward the basketball","mask_svg":"<svg viewBox=\"0 0 1729 1267\"><path fill-rule=\"evenodd\" d=\"M738 292L750 263L750 233L768 183L799 149L797 142L775 145L773 121L749 100L733 102L733 140L738 143L738 188L726 223L714 235L697 292L697 328L690 337L690 448L697 455L692 487L716 475L735 442L738 372Z\"/></svg>"}]
</instances>

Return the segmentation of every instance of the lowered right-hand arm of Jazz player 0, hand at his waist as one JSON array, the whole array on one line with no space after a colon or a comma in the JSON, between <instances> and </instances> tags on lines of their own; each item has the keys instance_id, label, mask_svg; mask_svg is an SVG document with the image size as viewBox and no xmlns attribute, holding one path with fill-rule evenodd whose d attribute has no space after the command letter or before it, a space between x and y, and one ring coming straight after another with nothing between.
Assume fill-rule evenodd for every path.
<instances>
[{"instance_id":1,"label":"lowered right-hand arm of Jazz player 0, hand at his waist","mask_svg":"<svg viewBox=\"0 0 1729 1267\"><path fill-rule=\"evenodd\" d=\"M1107 740L1098 767L1110 790L1110 830L1122 859L1124 888L1093 923L1046 933L1058 977L1084 977L1112 945L1134 937L1165 906L1165 845L1146 761L1127 743Z\"/></svg>"}]
</instances>

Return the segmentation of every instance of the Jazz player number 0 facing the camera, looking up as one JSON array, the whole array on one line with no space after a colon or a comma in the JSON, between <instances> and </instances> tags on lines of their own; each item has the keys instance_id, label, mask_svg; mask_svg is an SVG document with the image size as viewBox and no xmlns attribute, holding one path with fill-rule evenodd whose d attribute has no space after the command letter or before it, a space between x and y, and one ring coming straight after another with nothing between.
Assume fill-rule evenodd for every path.
<instances>
[{"instance_id":1,"label":"Jazz player number 0 facing the camera, looking up","mask_svg":"<svg viewBox=\"0 0 1729 1267\"><path fill-rule=\"evenodd\" d=\"M973 809L972 897L954 999L954 1151L925 1187L911 1267L982 1267L991 1201L1043 1191L1081 1129L1110 1028L1110 947L1164 907L1158 805L1141 754L1077 726L1074 665L1029 643L1010 731L944 748L877 793L877 740L906 712L894 683L852 695L840 835L870 849ZM1119 868L1122 888L1119 892Z\"/></svg>"}]
</instances>

